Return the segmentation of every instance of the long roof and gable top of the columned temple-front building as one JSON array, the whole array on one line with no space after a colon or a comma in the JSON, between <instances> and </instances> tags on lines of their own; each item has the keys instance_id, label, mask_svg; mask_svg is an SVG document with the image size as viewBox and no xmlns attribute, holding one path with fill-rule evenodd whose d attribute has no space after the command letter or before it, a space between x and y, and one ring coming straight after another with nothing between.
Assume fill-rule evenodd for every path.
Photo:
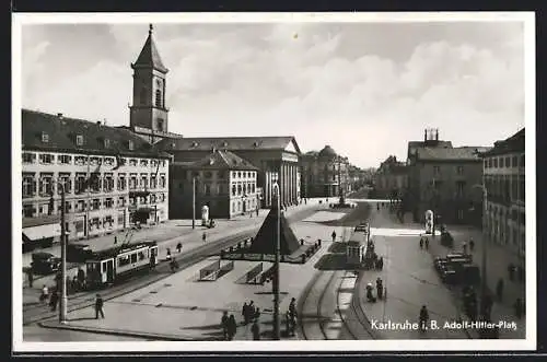
<instances>
[{"instance_id":1,"label":"long roof and gable top of the columned temple-front building","mask_svg":"<svg viewBox=\"0 0 547 362\"><path fill-rule=\"evenodd\" d=\"M164 139L158 142L156 147L165 151L210 151L213 148L228 151L284 150L291 142L300 154L300 148L292 136Z\"/></svg>"}]
</instances>

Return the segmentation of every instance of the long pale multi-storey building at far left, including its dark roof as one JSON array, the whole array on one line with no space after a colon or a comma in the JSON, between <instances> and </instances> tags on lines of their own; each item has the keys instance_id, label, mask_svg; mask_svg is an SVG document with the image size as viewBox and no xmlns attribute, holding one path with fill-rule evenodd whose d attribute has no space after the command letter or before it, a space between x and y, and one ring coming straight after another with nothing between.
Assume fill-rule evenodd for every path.
<instances>
[{"instance_id":1,"label":"long pale multi-storey building at far left, including its dark roof","mask_svg":"<svg viewBox=\"0 0 547 362\"><path fill-rule=\"evenodd\" d=\"M59 236L66 197L69 238L168 218L168 155L126 129L22 110L23 234Z\"/></svg>"}]
</instances>

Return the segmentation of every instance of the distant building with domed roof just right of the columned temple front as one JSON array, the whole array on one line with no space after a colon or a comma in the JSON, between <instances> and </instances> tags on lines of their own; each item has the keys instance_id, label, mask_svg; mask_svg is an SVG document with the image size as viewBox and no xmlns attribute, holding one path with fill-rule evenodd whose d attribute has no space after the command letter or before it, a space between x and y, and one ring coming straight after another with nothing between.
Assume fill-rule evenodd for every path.
<instances>
[{"instance_id":1,"label":"distant building with domed roof just right of the columned temple front","mask_svg":"<svg viewBox=\"0 0 547 362\"><path fill-rule=\"evenodd\" d=\"M338 197L342 190L347 195L352 190L349 166L348 159L336 154L328 144L319 152L303 154L301 194L305 197Z\"/></svg>"}]
</instances>

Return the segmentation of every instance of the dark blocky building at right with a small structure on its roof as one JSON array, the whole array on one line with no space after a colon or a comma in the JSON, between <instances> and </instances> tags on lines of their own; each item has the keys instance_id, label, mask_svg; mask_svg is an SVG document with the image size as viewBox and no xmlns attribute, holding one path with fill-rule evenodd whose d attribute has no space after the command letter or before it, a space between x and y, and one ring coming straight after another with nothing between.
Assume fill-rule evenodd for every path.
<instances>
[{"instance_id":1,"label":"dark blocky building at right with a small structure on its roof","mask_svg":"<svg viewBox=\"0 0 547 362\"><path fill-rule=\"evenodd\" d=\"M443 223L473 223L481 203L472 191L482 182L478 153L488 148L453 148L452 142L439 140L438 130L427 131L423 142L409 142L408 148L409 188L404 197L415 220L421 222L432 210Z\"/></svg>"}]
</instances>

